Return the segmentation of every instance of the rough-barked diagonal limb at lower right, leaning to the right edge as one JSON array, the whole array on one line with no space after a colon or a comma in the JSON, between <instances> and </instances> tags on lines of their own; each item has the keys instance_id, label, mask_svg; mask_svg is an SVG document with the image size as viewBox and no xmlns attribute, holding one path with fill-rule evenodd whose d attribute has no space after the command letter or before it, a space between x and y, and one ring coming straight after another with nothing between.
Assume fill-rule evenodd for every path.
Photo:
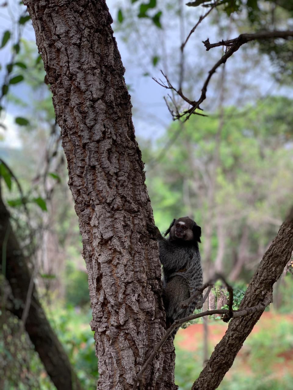
<instances>
[{"instance_id":1,"label":"rough-barked diagonal limb at lower right, leaning to the right edge","mask_svg":"<svg viewBox=\"0 0 293 390\"><path fill-rule=\"evenodd\" d=\"M291 258L293 250L293 209L286 222L282 224L270 248L266 251L257 273L250 282L239 310L261 303L264 298L272 297L273 284L281 276L284 267ZM234 359L244 340L252 331L263 311L247 317L231 319L223 339L216 345L207 365L192 386L192 390L216 389Z\"/></svg>"}]
</instances>

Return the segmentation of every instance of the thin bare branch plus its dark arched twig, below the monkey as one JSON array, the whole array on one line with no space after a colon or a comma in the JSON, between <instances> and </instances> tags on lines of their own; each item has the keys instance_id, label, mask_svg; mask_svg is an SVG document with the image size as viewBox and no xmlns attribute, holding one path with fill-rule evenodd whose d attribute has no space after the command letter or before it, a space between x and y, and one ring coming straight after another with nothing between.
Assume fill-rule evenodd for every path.
<instances>
[{"instance_id":1,"label":"thin bare branch plus its dark arched twig, below the monkey","mask_svg":"<svg viewBox=\"0 0 293 390\"><path fill-rule=\"evenodd\" d=\"M187 300L183 301L181 303L181 306L182 307L188 307L197 298L197 296L200 293L202 293L207 288L207 292L205 293L204 297L202 298L202 300L200 302L197 303L197 306L196 306L196 308L201 308L203 303L205 302L205 300L209 296L209 293L210 293L212 287L214 286L214 283L216 282L216 280L219 280L219 279L222 280L222 282L225 284L225 286L227 288L227 291L229 293L228 309L206 310L205 312L201 312L201 313L198 313L198 314L191 314L191 316L184 317L184 318L179 318L179 319L175 320L173 322L173 324L170 326L170 328L168 328L166 330L166 333L164 334L162 339L155 346L154 351L152 351L152 353L150 354L148 359L145 361L145 363L143 364L143 367L141 367L141 370L138 372L138 374L136 374L136 376L134 378L134 385L132 387L132 390L136 389L138 383L142 384L143 373L147 369L148 365L152 362L152 360L154 359L154 357L157 354L157 352L161 349L161 347L164 345L166 340L168 340L168 338L173 333L173 331L175 329L177 329L181 324L183 324L185 322L188 322L188 321L191 321L193 319L200 318L200 317L212 316L213 314L221 314L222 315L222 320L224 322L228 322L231 318L244 317L244 316L248 316L249 314L252 314L254 312L257 312L259 310L264 310L264 308L266 306L268 306L269 303L270 303L270 298L264 298L264 300L262 302L260 302L256 306L248 307L248 308L245 308L243 310L235 310L235 311L233 311L233 309L232 309L232 305L233 305L233 289L227 283L227 281L225 280L225 278L222 275L216 274L213 278L211 278L211 280L209 280L209 282L203 284L202 287L198 288L196 293L193 294L193 296L191 296ZM141 386L141 388L143 388L143 387Z\"/></svg>"}]
</instances>

